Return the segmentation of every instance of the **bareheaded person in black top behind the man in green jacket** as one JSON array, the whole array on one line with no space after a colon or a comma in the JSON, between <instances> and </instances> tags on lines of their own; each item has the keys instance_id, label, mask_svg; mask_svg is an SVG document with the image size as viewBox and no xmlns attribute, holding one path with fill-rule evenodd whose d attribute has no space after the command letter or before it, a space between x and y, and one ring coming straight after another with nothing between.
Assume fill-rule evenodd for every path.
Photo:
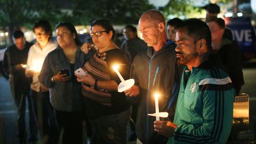
<instances>
[{"instance_id":1,"label":"bareheaded person in black top behind the man in green jacket","mask_svg":"<svg viewBox=\"0 0 256 144\"><path fill-rule=\"evenodd\" d=\"M225 39L225 21L222 18L210 17L207 24L212 34L212 48L223 65L228 68L229 76L236 89L236 95L239 95L242 85L244 85L244 76L242 72L242 57L235 41Z\"/></svg>"}]
</instances>

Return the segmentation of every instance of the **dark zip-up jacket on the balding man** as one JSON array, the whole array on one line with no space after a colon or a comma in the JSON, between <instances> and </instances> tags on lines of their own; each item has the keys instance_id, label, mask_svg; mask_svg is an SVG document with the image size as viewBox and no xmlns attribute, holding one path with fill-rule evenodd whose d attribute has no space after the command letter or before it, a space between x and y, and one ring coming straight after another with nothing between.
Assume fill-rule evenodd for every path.
<instances>
[{"instance_id":1,"label":"dark zip-up jacket on the balding man","mask_svg":"<svg viewBox=\"0 0 256 144\"><path fill-rule=\"evenodd\" d=\"M176 64L175 44L165 45L153 53L152 47L138 53L133 60L132 78L140 86L140 101L137 111L136 135L143 143L167 143L168 137L158 135L153 130L156 117L148 116L155 113L153 94L159 92L159 112L168 111L169 120L174 118L178 95L173 88L180 87L183 67ZM175 86L174 86L175 85ZM175 98L171 107L169 101ZM165 141L166 139L166 141Z\"/></svg>"}]
</instances>

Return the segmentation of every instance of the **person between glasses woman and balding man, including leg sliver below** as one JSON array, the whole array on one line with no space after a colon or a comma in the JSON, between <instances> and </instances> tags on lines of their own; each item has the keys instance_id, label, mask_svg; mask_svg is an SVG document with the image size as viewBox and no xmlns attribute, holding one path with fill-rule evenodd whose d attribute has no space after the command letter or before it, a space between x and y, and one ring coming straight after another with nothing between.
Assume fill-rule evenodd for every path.
<instances>
[{"instance_id":1,"label":"person between glasses woman and balding man, including leg sliver below","mask_svg":"<svg viewBox=\"0 0 256 144\"><path fill-rule=\"evenodd\" d=\"M124 52L124 55L126 56L129 63L132 64L133 59L137 55L137 53L141 52L142 50L148 49L148 46L142 39L139 39L139 37L137 36L137 29L133 25L126 25L123 29L123 35L124 41L121 44L120 49ZM129 121L131 131L128 141L133 141L137 139L134 125L136 123L137 107L138 103L132 105L132 115L131 120Z\"/></svg>"}]
</instances>

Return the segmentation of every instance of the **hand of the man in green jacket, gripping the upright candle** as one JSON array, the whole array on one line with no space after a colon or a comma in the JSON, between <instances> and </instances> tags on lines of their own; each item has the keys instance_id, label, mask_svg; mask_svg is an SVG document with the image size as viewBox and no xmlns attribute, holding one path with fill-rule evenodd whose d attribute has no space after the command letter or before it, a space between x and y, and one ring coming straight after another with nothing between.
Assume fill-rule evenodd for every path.
<instances>
[{"instance_id":1,"label":"hand of the man in green jacket, gripping the upright candle","mask_svg":"<svg viewBox=\"0 0 256 144\"><path fill-rule=\"evenodd\" d=\"M160 135L171 137L177 125L171 121L154 121L154 130Z\"/></svg>"}]
</instances>

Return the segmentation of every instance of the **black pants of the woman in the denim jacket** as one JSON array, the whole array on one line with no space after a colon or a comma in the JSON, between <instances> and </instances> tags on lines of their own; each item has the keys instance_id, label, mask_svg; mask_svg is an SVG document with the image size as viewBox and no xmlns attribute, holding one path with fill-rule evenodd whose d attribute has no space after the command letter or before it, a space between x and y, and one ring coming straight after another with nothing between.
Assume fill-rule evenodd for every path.
<instances>
[{"instance_id":1,"label":"black pants of the woman in the denim jacket","mask_svg":"<svg viewBox=\"0 0 256 144\"><path fill-rule=\"evenodd\" d=\"M82 143L82 112L67 112L57 111L56 118L60 128L60 133L63 133L63 144Z\"/></svg>"}]
</instances>

